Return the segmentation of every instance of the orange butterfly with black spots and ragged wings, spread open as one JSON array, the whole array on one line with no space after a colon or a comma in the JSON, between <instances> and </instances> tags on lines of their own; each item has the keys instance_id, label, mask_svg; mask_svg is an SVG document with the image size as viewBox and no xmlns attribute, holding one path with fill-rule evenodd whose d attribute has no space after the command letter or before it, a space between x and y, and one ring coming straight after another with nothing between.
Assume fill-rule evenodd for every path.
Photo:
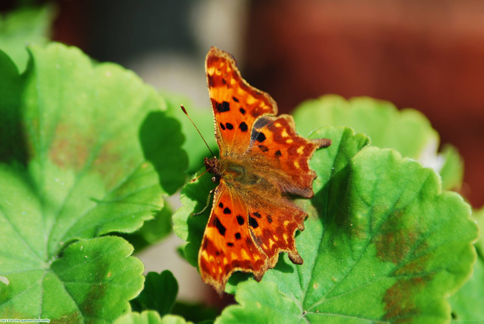
<instances>
[{"instance_id":1,"label":"orange butterfly with black spots and ragged wings, spread open","mask_svg":"<svg viewBox=\"0 0 484 324\"><path fill-rule=\"evenodd\" d=\"M309 159L331 140L305 139L296 134L292 116L275 117L275 101L241 77L227 52L210 48L205 72L220 158L204 159L219 185L198 267L221 295L235 271L252 272L260 281L280 252L302 264L294 235L304 230L307 213L290 196L314 196Z\"/></svg>"}]
</instances>

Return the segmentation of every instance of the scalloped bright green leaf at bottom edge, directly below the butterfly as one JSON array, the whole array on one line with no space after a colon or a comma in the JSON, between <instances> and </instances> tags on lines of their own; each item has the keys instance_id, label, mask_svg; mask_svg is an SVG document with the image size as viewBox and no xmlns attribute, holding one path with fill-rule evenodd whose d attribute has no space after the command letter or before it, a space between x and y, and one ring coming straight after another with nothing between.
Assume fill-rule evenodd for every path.
<instances>
[{"instance_id":1,"label":"scalloped bright green leaf at bottom edge, directly below the butterfly","mask_svg":"<svg viewBox=\"0 0 484 324\"><path fill-rule=\"evenodd\" d=\"M307 323L299 306L281 294L273 282L243 282L235 293L235 300L240 305L224 309L215 324Z\"/></svg>"}]
</instances>

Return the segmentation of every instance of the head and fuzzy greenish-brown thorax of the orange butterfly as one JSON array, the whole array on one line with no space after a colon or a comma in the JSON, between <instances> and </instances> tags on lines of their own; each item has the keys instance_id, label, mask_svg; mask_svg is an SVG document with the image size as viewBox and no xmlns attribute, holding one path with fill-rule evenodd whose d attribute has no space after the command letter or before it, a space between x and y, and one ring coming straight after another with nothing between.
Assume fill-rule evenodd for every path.
<instances>
[{"instance_id":1,"label":"head and fuzzy greenish-brown thorax of the orange butterfly","mask_svg":"<svg viewBox=\"0 0 484 324\"><path fill-rule=\"evenodd\" d=\"M214 175L212 178L213 182L223 179L228 184L255 185L262 181L257 174L251 172L250 166L245 165L242 161L236 161L228 157L220 159L216 157L209 159L206 157L204 164L207 171Z\"/></svg>"}]
</instances>

